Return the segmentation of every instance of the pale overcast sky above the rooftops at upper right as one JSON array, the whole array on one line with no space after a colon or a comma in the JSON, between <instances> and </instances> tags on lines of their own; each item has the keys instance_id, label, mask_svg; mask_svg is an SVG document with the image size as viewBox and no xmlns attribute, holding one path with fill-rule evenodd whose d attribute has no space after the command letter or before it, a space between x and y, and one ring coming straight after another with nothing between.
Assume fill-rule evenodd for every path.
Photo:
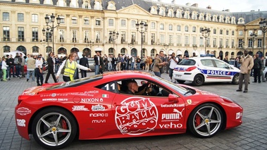
<instances>
[{"instance_id":1,"label":"pale overcast sky above the rooftops at upper right","mask_svg":"<svg viewBox=\"0 0 267 150\"><path fill-rule=\"evenodd\" d=\"M158 0L154 0L158 1ZM171 3L173 0L161 0L162 2ZM176 4L184 5L187 3L199 4L199 8L211 6L211 9L223 11L230 9L230 12L247 12L247 11L267 11L266 0L175 0Z\"/></svg>"}]
</instances>

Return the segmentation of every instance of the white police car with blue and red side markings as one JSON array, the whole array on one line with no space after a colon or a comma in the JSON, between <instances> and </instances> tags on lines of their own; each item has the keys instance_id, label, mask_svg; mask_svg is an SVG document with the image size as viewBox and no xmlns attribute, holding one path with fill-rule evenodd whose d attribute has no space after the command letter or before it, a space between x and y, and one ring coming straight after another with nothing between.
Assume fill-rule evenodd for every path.
<instances>
[{"instance_id":1,"label":"white police car with blue and red side markings","mask_svg":"<svg viewBox=\"0 0 267 150\"><path fill-rule=\"evenodd\" d=\"M173 70L173 78L179 83L190 81L200 86L204 82L239 82L240 70L212 56L185 58Z\"/></svg>"}]
</instances>

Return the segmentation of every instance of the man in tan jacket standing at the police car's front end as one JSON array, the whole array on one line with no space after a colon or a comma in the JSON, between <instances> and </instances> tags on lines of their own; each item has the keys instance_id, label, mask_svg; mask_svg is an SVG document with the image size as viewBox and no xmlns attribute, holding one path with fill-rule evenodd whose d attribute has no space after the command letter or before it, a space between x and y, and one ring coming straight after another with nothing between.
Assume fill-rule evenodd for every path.
<instances>
[{"instance_id":1,"label":"man in tan jacket standing at the police car's front end","mask_svg":"<svg viewBox=\"0 0 267 150\"><path fill-rule=\"evenodd\" d=\"M240 78L239 78L239 87L237 92L242 92L242 85L244 80L244 93L247 93L249 86L249 73L253 68L254 61L252 56L249 55L247 49L244 50L244 54L240 56L239 62L240 65Z\"/></svg>"}]
</instances>

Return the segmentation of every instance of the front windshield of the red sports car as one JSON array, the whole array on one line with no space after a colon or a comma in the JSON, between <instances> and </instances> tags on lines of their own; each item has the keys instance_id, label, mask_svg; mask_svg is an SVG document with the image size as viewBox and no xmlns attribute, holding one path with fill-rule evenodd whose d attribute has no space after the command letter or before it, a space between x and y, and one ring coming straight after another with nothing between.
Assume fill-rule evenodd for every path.
<instances>
[{"instance_id":1,"label":"front windshield of the red sports car","mask_svg":"<svg viewBox=\"0 0 267 150\"><path fill-rule=\"evenodd\" d=\"M156 80L161 82L162 85L168 85L168 87L175 89L176 92L179 92L182 95L187 95L187 96L192 95L191 93L188 93L189 91L187 89L185 89L184 87L181 87L177 84L174 84L173 82L169 82L168 80L165 80L161 77L157 77L156 75L152 76L152 77L154 77Z\"/></svg>"}]
</instances>

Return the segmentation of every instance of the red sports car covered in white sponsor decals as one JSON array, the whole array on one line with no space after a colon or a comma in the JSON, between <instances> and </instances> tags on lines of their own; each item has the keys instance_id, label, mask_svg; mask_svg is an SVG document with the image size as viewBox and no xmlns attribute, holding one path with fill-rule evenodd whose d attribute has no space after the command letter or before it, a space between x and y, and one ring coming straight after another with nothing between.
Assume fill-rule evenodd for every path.
<instances>
[{"instance_id":1,"label":"red sports car covered in white sponsor decals","mask_svg":"<svg viewBox=\"0 0 267 150\"><path fill-rule=\"evenodd\" d=\"M242 123L235 101L149 73L122 71L26 89L18 97L19 134L47 149L78 139L185 133L212 137Z\"/></svg>"}]
</instances>

